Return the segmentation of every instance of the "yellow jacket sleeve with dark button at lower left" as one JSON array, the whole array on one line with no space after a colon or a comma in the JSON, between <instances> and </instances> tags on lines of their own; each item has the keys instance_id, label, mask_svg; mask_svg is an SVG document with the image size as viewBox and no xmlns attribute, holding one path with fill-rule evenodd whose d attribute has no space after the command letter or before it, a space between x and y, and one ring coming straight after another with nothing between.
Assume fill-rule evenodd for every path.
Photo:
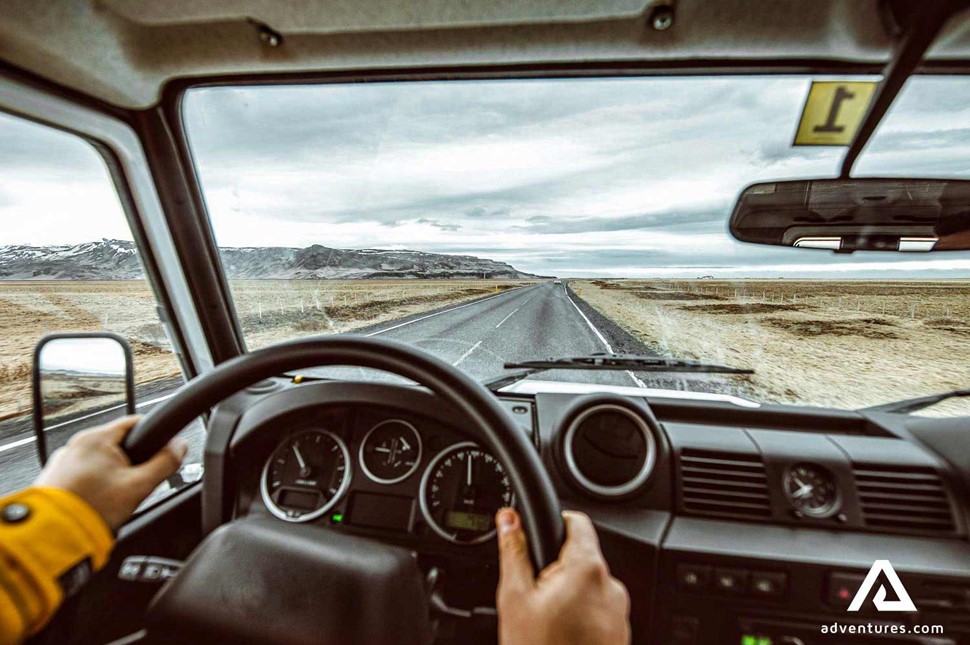
<instances>
[{"instance_id":1,"label":"yellow jacket sleeve with dark button at lower left","mask_svg":"<svg viewBox=\"0 0 970 645\"><path fill-rule=\"evenodd\" d=\"M28 488L0 498L0 645L38 632L113 546L104 519L74 493Z\"/></svg>"}]
</instances>

